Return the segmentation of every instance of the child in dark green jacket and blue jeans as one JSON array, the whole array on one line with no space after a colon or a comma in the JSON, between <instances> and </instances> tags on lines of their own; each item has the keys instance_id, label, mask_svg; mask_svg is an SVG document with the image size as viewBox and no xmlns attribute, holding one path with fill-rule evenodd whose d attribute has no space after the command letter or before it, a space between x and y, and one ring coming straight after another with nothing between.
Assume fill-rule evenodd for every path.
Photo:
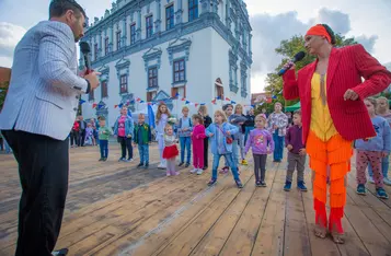
<instances>
[{"instance_id":1,"label":"child in dark green jacket and blue jeans","mask_svg":"<svg viewBox=\"0 0 391 256\"><path fill-rule=\"evenodd\" d=\"M151 128L146 124L146 115L138 115L138 125L135 127L135 143L138 144L138 153L140 154L140 163L137 167L145 168L149 166L149 143L151 142Z\"/></svg>"}]
</instances>

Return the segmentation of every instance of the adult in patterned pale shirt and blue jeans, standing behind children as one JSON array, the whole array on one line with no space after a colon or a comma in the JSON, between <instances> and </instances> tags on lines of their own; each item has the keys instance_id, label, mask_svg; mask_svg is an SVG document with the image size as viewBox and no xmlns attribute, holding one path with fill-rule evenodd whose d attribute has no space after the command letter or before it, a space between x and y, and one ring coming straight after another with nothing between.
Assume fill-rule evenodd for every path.
<instances>
[{"instance_id":1,"label":"adult in patterned pale shirt and blue jeans, standing behind children","mask_svg":"<svg viewBox=\"0 0 391 256\"><path fill-rule=\"evenodd\" d=\"M268 116L268 128L273 133L274 153L273 162L280 163L283 160L285 136L287 135L288 117L283 113L283 104L276 102L274 112Z\"/></svg>"}]
</instances>

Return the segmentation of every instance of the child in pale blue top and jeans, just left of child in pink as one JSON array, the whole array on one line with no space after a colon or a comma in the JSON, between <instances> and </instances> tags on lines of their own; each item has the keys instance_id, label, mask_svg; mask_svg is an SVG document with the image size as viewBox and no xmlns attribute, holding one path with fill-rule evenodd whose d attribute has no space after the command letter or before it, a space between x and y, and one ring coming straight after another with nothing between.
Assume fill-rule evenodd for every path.
<instances>
[{"instance_id":1,"label":"child in pale blue top and jeans, just left of child in pink","mask_svg":"<svg viewBox=\"0 0 391 256\"><path fill-rule=\"evenodd\" d=\"M179 166L184 164L185 160L185 150L187 151L186 155L186 164L185 167L188 167L191 164L191 155L192 155L192 119L188 117L188 107L182 107L183 117L180 119L180 124L177 125L177 135L180 137L181 143L181 163Z\"/></svg>"}]
</instances>

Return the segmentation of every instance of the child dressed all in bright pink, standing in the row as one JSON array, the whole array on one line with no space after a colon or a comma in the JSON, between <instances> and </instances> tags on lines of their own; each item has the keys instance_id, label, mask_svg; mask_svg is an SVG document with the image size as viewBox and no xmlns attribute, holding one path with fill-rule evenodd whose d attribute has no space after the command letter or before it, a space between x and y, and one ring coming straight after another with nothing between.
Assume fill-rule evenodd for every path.
<instances>
[{"instance_id":1,"label":"child dressed all in bright pink, standing in the row","mask_svg":"<svg viewBox=\"0 0 391 256\"><path fill-rule=\"evenodd\" d=\"M192 132L192 142L193 142L193 165L194 170L191 173L197 173L202 175L204 172L204 139L205 127L203 125L203 117L200 115L193 115L193 132Z\"/></svg>"}]
</instances>

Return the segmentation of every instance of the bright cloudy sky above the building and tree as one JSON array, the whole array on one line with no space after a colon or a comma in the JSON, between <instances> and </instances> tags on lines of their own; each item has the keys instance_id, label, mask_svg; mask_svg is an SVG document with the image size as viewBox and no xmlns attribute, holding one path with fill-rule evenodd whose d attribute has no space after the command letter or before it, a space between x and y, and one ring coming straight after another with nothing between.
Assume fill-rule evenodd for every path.
<instances>
[{"instance_id":1,"label":"bright cloudy sky above the building and tree","mask_svg":"<svg viewBox=\"0 0 391 256\"><path fill-rule=\"evenodd\" d=\"M12 65L12 53L23 34L48 15L50 0L0 0L0 66ZM111 0L79 0L90 20L102 16ZM280 62L274 53L283 39L327 23L335 33L354 36L391 69L391 0L245 0L253 28L252 92L265 86L266 73ZM23 8L21 8L23 7ZM5 10L5 11L4 11Z\"/></svg>"}]
</instances>

